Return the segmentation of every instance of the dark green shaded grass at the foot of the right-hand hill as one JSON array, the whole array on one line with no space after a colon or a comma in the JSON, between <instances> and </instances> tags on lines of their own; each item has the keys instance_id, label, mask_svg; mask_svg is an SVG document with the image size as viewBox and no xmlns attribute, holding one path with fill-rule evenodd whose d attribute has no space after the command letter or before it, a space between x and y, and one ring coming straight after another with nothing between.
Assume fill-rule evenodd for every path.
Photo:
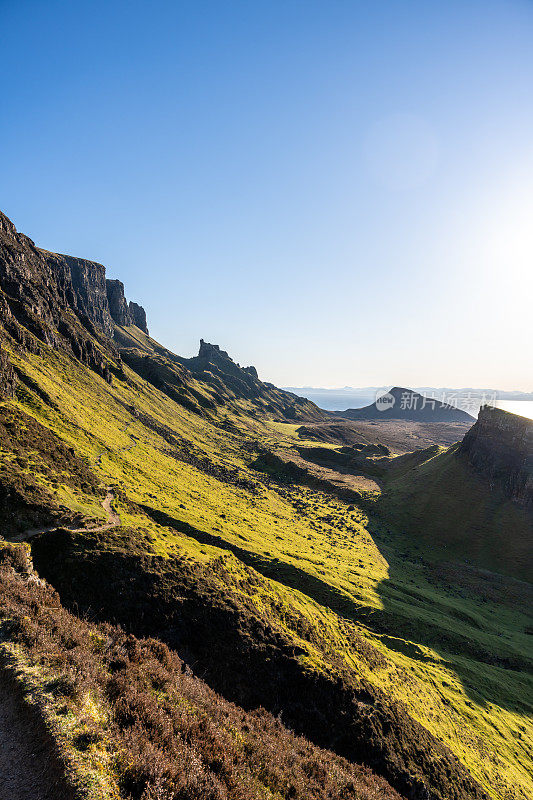
<instances>
[{"instance_id":1,"label":"dark green shaded grass at the foot of the right-hand hill","mask_svg":"<svg viewBox=\"0 0 533 800\"><path fill-rule=\"evenodd\" d=\"M438 653L477 705L530 714L527 682L533 663L525 649L514 650L509 641L517 628L498 629L498 611L507 608L523 618L531 587L461 562L427 560L427 551L410 549L379 520L370 518L368 531L389 565L389 577L376 589L393 635ZM479 613L485 608L494 614L493 624Z\"/></svg>"}]
</instances>

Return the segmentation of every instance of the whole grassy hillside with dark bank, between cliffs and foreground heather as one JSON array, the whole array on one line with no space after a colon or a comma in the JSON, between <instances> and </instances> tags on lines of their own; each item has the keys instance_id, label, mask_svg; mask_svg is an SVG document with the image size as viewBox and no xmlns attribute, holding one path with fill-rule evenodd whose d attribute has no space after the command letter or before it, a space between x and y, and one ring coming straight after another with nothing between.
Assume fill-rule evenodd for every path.
<instances>
[{"instance_id":1,"label":"whole grassy hillside with dark bank, between cliffs and foreground heather","mask_svg":"<svg viewBox=\"0 0 533 800\"><path fill-rule=\"evenodd\" d=\"M28 527L39 509L103 523L115 487L121 527L30 540L69 607L160 637L228 699L281 713L405 796L528 797L522 584L450 579L380 517L257 471L258 445L289 446L293 426L247 401L207 419L128 367L110 385L48 348L10 358L27 380L3 405L3 480L32 504ZM32 425L54 446L25 439Z\"/></svg>"}]
</instances>

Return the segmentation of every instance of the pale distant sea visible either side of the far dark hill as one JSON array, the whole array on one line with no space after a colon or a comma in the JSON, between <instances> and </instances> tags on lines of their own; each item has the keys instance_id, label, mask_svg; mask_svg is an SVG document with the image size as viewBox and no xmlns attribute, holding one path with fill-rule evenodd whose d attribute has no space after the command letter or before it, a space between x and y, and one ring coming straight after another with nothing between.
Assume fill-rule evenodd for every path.
<instances>
[{"instance_id":1,"label":"pale distant sea visible either side of the far dark hill","mask_svg":"<svg viewBox=\"0 0 533 800\"><path fill-rule=\"evenodd\" d=\"M289 391L295 394L307 397L312 400L320 408L325 408L327 411L346 411L347 408L363 408L369 406L376 399L376 390L371 387L370 390L350 390L350 389L316 389L311 387L286 387ZM378 390L378 394L382 394L385 390ZM424 394L423 389L417 389L421 394ZM472 392L475 394L475 391ZM431 393L428 392L431 396ZM440 390L435 390L435 396L441 396ZM510 411L512 414L519 414L522 417L533 419L533 400L498 400L492 399L493 395L487 393L486 402L489 405L496 405L498 408L503 408L505 411ZM472 405L472 400L469 403L458 402L459 407L463 407L465 411L473 416L478 413L479 408Z\"/></svg>"}]
</instances>

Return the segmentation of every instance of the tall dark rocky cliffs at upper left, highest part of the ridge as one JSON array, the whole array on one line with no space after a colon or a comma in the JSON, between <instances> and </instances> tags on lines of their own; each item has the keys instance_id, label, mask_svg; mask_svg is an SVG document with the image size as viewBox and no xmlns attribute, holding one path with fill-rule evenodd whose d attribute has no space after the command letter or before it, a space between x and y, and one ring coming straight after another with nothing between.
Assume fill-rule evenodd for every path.
<instances>
[{"instance_id":1,"label":"tall dark rocky cliffs at upper left, highest part of the ridge","mask_svg":"<svg viewBox=\"0 0 533 800\"><path fill-rule=\"evenodd\" d=\"M110 380L121 369L116 325L148 331L144 309L127 303L120 281L106 280L102 264L36 247L0 212L0 334L34 353L43 344L65 350ZM9 375L5 356L7 392Z\"/></svg>"}]
</instances>

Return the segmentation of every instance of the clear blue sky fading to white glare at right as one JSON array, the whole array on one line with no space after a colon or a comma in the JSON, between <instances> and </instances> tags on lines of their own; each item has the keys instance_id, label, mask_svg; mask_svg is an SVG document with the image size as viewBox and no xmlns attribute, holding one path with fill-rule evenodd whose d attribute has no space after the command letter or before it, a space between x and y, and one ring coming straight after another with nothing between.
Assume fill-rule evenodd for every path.
<instances>
[{"instance_id":1,"label":"clear blue sky fading to white glare at right","mask_svg":"<svg viewBox=\"0 0 533 800\"><path fill-rule=\"evenodd\" d=\"M0 207L182 355L533 389L531 0L0 0Z\"/></svg>"}]
</instances>

